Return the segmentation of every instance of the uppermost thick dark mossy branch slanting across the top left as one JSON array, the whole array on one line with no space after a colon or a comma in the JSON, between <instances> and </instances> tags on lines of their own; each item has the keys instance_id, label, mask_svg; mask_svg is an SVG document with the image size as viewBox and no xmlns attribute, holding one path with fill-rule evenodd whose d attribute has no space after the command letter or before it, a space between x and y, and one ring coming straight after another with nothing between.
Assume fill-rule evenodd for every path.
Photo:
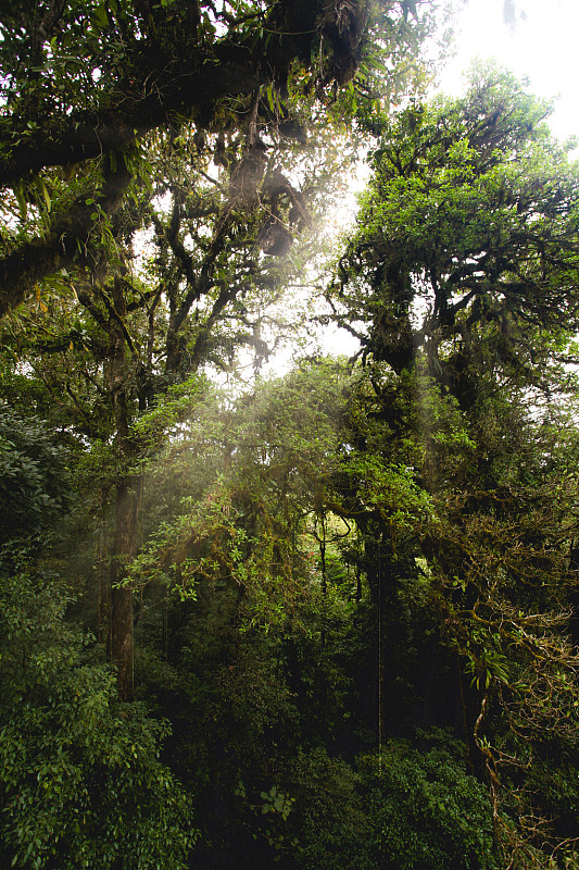
<instances>
[{"instance_id":1,"label":"uppermost thick dark mossy branch slanting across the top left","mask_svg":"<svg viewBox=\"0 0 579 870\"><path fill-rule=\"evenodd\" d=\"M163 13L162 7L156 9ZM26 128L27 117L16 119L12 128L5 126L0 134L7 154L0 159L0 185L47 166L73 165L123 149L172 116L194 114L196 122L209 126L224 97L244 97L266 78L282 80L293 61L311 65L320 35L329 49L326 77L343 83L355 72L368 12L365 2L340 4L333 14L330 9L322 0L274 3L261 36L256 29L251 44L234 26L226 38L207 45L198 37L197 27L184 28L178 16L173 24L163 23L159 42L161 32L153 25L147 33L146 15L140 23L142 38L125 46L126 72L101 100L104 109L51 116L34 133ZM344 9L348 21L342 22Z\"/></svg>"}]
</instances>

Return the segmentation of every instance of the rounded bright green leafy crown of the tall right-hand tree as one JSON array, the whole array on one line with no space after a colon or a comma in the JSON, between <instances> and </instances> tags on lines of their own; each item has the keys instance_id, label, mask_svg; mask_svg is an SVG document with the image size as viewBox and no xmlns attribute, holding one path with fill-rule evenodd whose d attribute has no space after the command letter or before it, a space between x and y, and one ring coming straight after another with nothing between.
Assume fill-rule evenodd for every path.
<instances>
[{"instance_id":1,"label":"rounded bright green leafy crown of the tall right-hand tree","mask_svg":"<svg viewBox=\"0 0 579 870\"><path fill-rule=\"evenodd\" d=\"M465 99L386 124L336 288L348 312L337 320L368 324L364 356L400 373L425 348L466 402L461 366L486 324L498 364L534 362L536 328L572 332L578 178L549 111L507 73L481 70Z\"/></svg>"}]
</instances>

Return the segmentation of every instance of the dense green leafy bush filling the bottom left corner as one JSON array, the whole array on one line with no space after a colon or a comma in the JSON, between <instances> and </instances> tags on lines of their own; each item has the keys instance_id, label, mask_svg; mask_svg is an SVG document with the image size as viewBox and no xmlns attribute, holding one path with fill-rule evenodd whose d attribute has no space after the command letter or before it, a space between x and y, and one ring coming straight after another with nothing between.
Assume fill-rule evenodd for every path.
<instances>
[{"instance_id":1,"label":"dense green leafy bush filling the bottom left corner","mask_svg":"<svg viewBox=\"0 0 579 870\"><path fill-rule=\"evenodd\" d=\"M0 853L20 870L186 866L188 800L159 761L167 729L115 700L63 620L67 598L0 577Z\"/></svg>"}]
</instances>

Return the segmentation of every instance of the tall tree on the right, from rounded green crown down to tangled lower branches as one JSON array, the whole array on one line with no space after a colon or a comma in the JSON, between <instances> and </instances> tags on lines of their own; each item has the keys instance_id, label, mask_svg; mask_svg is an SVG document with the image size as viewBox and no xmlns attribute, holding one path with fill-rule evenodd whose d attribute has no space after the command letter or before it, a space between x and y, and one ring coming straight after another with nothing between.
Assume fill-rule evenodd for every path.
<instances>
[{"instance_id":1,"label":"tall tree on the right, from rounded green crown down to tangled lower branches","mask_svg":"<svg viewBox=\"0 0 579 870\"><path fill-rule=\"evenodd\" d=\"M579 176L546 115L487 70L465 99L387 124L330 295L367 364L350 418L361 458L340 500L361 512L380 648L404 588L418 600L426 584L441 646L458 656L450 709L498 823L503 810L517 819L500 830L520 866L541 866L536 849L557 843L530 794L550 751L542 735L564 759L576 745L575 446L554 433L574 428Z\"/></svg>"}]
</instances>

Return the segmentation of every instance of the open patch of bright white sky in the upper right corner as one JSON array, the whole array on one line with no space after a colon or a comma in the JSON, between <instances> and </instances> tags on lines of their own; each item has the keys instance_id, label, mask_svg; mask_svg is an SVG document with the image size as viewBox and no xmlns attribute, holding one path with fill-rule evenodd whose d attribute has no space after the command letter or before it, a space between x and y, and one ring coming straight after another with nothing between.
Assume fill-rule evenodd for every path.
<instances>
[{"instance_id":1,"label":"open patch of bright white sky in the upper right corner","mask_svg":"<svg viewBox=\"0 0 579 870\"><path fill-rule=\"evenodd\" d=\"M473 58L495 58L527 76L540 97L558 97L551 128L579 135L579 0L516 0L517 23L503 22L503 0L468 0L457 27L457 57L441 76L441 90L464 92L461 73Z\"/></svg>"}]
</instances>

